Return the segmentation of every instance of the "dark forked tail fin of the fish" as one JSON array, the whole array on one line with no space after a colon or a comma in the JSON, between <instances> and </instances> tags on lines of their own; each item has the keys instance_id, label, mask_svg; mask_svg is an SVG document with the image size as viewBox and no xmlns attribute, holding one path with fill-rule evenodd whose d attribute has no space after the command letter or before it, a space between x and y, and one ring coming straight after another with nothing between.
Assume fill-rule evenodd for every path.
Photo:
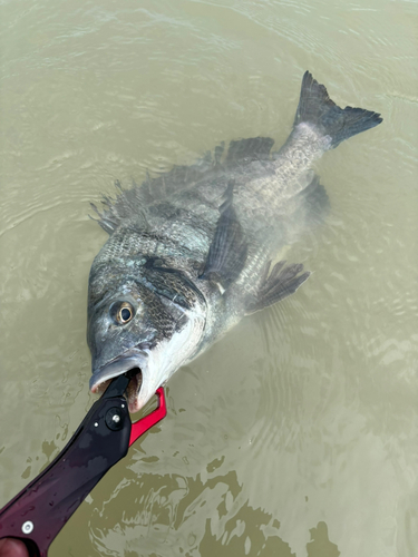
<instances>
[{"instance_id":1,"label":"dark forked tail fin of the fish","mask_svg":"<svg viewBox=\"0 0 418 557\"><path fill-rule=\"evenodd\" d=\"M333 148L344 139L373 128L381 121L380 114L371 110L351 106L340 108L330 99L325 87L305 71L293 126L301 123L313 124L323 135L331 136Z\"/></svg>"}]
</instances>

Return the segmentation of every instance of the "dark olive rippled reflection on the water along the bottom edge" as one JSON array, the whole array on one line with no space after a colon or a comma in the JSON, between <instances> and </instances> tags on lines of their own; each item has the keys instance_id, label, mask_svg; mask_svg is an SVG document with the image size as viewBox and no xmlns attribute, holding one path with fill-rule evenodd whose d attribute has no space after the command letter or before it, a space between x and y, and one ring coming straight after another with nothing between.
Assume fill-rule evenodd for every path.
<instances>
[{"instance_id":1,"label":"dark olive rippled reflection on the water along the bottom edge","mask_svg":"<svg viewBox=\"0 0 418 557\"><path fill-rule=\"evenodd\" d=\"M208 465L204 481L201 475L188 478L145 473L116 486L115 491L130 511L107 529L111 501L94 509L89 527L98 554L117 556L123 536L125 555L150 555L157 544L167 551L169 548L169 555L294 557L281 537L280 521L251 506L235 471L216 475L221 463L215 460ZM310 539L309 557L340 555L329 540L325 522L310 529Z\"/></svg>"}]
</instances>

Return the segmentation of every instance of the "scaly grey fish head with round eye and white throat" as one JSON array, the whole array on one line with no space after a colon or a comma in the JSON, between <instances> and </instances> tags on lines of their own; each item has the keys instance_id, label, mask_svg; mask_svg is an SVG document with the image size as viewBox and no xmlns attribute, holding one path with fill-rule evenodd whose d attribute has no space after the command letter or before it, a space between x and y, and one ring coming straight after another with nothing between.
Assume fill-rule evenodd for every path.
<instances>
[{"instance_id":1,"label":"scaly grey fish head with round eye and white throat","mask_svg":"<svg viewBox=\"0 0 418 557\"><path fill-rule=\"evenodd\" d=\"M134 370L127 399L129 411L136 412L197 353L206 303L174 270L126 274L126 267L90 273L90 390L103 392L113 378Z\"/></svg>"}]
</instances>

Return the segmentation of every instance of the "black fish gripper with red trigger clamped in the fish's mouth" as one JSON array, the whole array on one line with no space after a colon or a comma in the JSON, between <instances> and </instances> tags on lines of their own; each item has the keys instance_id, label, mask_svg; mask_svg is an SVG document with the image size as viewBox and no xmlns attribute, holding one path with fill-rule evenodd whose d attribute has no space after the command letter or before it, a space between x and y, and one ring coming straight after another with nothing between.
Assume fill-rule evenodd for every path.
<instances>
[{"instance_id":1,"label":"black fish gripper with red trigger clamped in the fish's mouth","mask_svg":"<svg viewBox=\"0 0 418 557\"><path fill-rule=\"evenodd\" d=\"M137 368L111 380L56 459L0 510L0 538L20 538L30 557L46 557L96 483L167 414L161 387L157 408L132 423L124 393L136 373Z\"/></svg>"}]
</instances>

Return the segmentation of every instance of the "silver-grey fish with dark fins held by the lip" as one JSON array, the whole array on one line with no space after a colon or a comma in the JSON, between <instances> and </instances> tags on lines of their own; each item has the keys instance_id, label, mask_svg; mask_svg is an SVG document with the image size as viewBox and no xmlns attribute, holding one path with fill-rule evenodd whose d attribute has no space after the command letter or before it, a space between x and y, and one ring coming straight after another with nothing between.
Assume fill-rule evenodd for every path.
<instances>
[{"instance_id":1,"label":"silver-grey fish with dark fins held by the lip","mask_svg":"<svg viewBox=\"0 0 418 557\"><path fill-rule=\"evenodd\" d=\"M278 254L329 211L314 162L381 121L340 108L307 71L279 150L269 137L222 143L140 185L116 183L115 197L91 204L109 235L89 274L91 392L129 372L136 412L245 315L293 294L310 273Z\"/></svg>"}]
</instances>

